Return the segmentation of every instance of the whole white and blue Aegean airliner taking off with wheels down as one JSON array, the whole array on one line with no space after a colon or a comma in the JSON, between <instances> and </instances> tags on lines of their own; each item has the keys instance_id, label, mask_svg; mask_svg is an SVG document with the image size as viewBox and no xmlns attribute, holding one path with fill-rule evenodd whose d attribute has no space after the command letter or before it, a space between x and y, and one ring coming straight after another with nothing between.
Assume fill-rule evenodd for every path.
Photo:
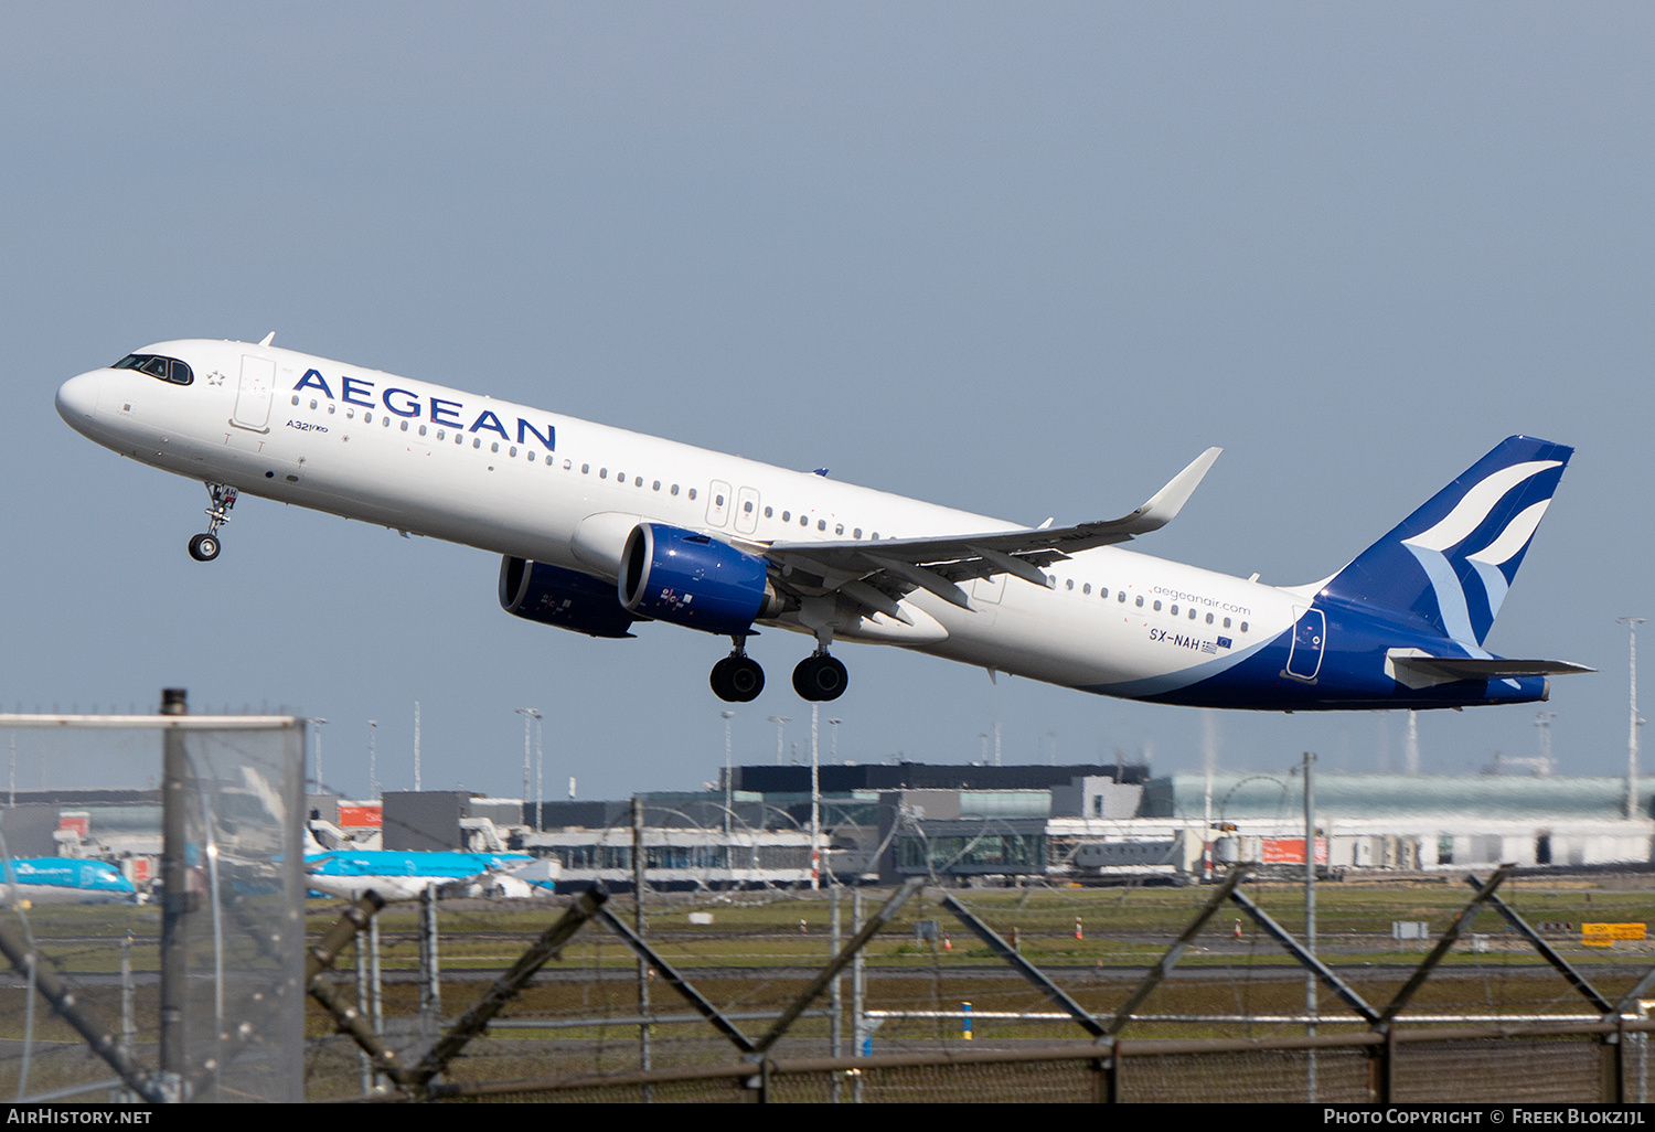
<instances>
[{"instance_id":1,"label":"whole white and blue Aegean airliner taking off with wheels down","mask_svg":"<svg viewBox=\"0 0 1655 1132\"><path fill-rule=\"evenodd\" d=\"M506 612L594 637L665 621L730 637L723 700L753 700L758 627L808 634L793 670L832 700L834 640L894 644L1082 692L1200 707L1440 708L1547 698L1483 640L1572 448L1503 440L1326 581L1278 588L1120 549L1172 520L1208 448L1117 520L1038 528L276 349L146 346L58 389L71 427L202 480L200 561L242 493L503 556Z\"/></svg>"}]
</instances>

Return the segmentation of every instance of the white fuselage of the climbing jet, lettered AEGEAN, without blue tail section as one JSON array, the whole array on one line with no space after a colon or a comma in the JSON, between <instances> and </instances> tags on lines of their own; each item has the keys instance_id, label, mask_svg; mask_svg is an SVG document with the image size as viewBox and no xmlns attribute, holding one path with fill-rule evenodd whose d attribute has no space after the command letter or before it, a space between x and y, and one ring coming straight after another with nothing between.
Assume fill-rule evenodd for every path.
<instances>
[{"instance_id":1,"label":"white fuselage of the climbing jet, lettered AEGEAN, without blue tail section","mask_svg":"<svg viewBox=\"0 0 1655 1132\"><path fill-rule=\"evenodd\" d=\"M295 351L175 341L146 353L185 359L194 382L93 371L60 391L65 419L167 472L597 578L617 578L639 521L755 553L771 543L1023 530ZM1006 574L967 583L970 611L914 591L902 602L912 626L867 617L834 636L1134 695L1211 662L1195 637L1225 634L1228 655L1240 659L1289 627L1306 601L1114 546L1046 573L1046 588ZM796 616L763 624L806 631Z\"/></svg>"}]
</instances>

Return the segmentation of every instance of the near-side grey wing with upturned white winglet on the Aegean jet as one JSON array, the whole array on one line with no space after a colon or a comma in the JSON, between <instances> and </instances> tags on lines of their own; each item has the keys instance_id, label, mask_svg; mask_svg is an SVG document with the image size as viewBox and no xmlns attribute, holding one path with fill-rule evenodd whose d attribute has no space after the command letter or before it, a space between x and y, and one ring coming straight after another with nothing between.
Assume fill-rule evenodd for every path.
<instances>
[{"instance_id":1,"label":"near-side grey wing with upturned white winglet on the Aegean jet","mask_svg":"<svg viewBox=\"0 0 1655 1132\"><path fill-rule=\"evenodd\" d=\"M771 543L765 556L781 568L783 578L796 579L794 584L803 589L837 591L900 621L907 617L897 602L914 589L927 589L970 609L965 591L958 586L962 581L1016 574L1034 586L1046 586L1041 566L1160 530L1178 515L1221 450L1208 448L1142 506L1117 520L942 538L889 538L877 543Z\"/></svg>"}]
</instances>

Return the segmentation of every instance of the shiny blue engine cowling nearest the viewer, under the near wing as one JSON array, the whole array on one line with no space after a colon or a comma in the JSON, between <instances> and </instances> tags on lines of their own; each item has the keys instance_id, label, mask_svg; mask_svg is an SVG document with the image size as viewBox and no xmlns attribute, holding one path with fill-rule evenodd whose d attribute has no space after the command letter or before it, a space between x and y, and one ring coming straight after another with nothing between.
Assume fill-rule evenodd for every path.
<instances>
[{"instance_id":1,"label":"shiny blue engine cowling nearest the viewer, under the near wing","mask_svg":"<svg viewBox=\"0 0 1655 1132\"><path fill-rule=\"evenodd\" d=\"M745 634L756 617L781 612L763 558L680 526L639 523L621 556L621 604L720 636Z\"/></svg>"}]
</instances>

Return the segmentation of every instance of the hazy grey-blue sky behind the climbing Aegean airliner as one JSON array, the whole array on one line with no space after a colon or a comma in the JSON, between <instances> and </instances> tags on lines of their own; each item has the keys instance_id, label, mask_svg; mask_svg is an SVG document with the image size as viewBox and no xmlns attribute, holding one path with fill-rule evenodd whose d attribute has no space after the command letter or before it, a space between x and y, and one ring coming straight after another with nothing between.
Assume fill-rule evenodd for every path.
<instances>
[{"instance_id":1,"label":"hazy grey-blue sky behind the climbing Aegean airliner","mask_svg":"<svg viewBox=\"0 0 1655 1132\"><path fill-rule=\"evenodd\" d=\"M288 705L328 778L695 788L723 645L505 616L478 551L247 500L63 425L68 376L257 339L1139 549L1326 576L1501 437L1577 455L1490 647L1557 680L1562 770L1620 773L1650 614L1655 15L1643 5L88 5L0 8L0 702ZM1650 636L1655 640L1655 634ZM806 750L771 692L735 750ZM1202 717L846 647L841 756L1152 750ZM1647 649L1655 657L1655 645ZM1655 660L1650 660L1655 672ZM1650 677L1655 687L1655 677ZM824 712L826 718L828 712ZM1220 761L1400 761L1402 717L1223 713ZM824 728L826 730L826 728ZM1534 710L1430 713L1433 771ZM74 784L74 783L63 783Z\"/></svg>"}]
</instances>

